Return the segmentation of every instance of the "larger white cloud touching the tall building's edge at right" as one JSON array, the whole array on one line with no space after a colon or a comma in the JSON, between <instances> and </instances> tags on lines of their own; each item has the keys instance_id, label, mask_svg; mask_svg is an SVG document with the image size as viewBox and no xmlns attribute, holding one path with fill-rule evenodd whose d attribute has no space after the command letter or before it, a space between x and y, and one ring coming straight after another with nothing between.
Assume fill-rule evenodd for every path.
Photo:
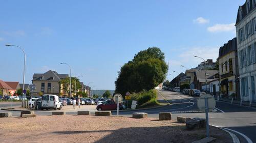
<instances>
[{"instance_id":1,"label":"larger white cloud touching the tall building's edge at right","mask_svg":"<svg viewBox=\"0 0 256 143\"><path fill-rule=\"evenodd\" d=\"M207 28L208 32L217 33L217 32L234 32L236 31L235 23L230 24L215 24Z\"/></svg>"}]
</instances>

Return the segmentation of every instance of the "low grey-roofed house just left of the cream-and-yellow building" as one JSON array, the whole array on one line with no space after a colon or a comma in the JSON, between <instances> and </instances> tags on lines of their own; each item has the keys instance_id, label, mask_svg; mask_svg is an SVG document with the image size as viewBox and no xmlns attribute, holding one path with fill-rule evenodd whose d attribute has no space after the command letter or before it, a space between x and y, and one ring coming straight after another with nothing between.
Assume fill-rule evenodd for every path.
<instances>
[{"instance_id":1,"label":"low grey-roofed house just left of the cream-and-yellow building","mask_svg":"<svg viewBox=\"0 0 256 143\"><path fill-rule=\"evenodd\" d=\"M194 72L194 85L195 89L198 90L203 90L202 85L205 84L205 82L211 81L214 78L212 77L213 75L218 74L219 71L217 70L200 70L200 71L195 71ZM210 79L211 77L212 79ZM205 90L205 89L204 89Z\"/></svg>"}]
</instances>

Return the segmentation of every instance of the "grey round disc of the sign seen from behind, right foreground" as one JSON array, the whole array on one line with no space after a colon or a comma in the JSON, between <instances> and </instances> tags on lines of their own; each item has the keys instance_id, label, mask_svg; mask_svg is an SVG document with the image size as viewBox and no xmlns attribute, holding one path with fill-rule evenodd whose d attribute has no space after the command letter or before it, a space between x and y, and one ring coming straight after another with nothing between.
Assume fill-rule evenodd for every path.
<instances>
[{"instance_id":1,"label":"grey round disc of the sign seen from behind, right foreground","mask_svg":"<svg viewBox=\"0 0 256 143\"><path fill-rule=\"evenodd\" d=\"M214 97L209 94L203 94L199 97L199 99L197 101L197 107L201 111L203 111L203 112L205 111L205 97L207 98L208 111L212 111L216 106L216 101L215 101Z\"/></svg>"}]
</instances>

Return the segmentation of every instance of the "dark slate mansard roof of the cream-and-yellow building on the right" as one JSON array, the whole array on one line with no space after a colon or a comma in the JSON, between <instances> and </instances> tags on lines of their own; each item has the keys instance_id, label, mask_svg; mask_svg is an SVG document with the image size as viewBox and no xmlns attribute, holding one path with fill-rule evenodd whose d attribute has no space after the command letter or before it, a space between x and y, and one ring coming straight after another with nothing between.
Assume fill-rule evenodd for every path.
<instances>
[{"instance_id":1,"label":"dark slate mansard roof of the cream-and-yellow building on the right","mask_svg":"<svg viewBox=\"0 0 256 143\"><path fill-rule=\"evenodd\" d=\"M237 38L235 37L232 40L229 40L222 47L220 47L220 49L219 49L219 58L228 54L231 51L236 51L236 50L238 50L238 48L237 48Z\"/></svg>"}]
</instances>

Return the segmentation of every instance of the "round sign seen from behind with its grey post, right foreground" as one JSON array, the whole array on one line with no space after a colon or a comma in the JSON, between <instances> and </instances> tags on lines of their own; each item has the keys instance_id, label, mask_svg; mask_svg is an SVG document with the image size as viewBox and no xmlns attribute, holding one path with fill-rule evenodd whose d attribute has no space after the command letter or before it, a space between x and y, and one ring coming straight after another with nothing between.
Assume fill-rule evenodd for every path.
<instances>
[{"instance_id":1,"label":"round sign seen from behind with its grey post, right foreground","mask_svg":"<svg viewBox=\"0 0 256 143\"><path fill-rule=\"evenodd\" d=\"M216 106L216 101L212 95L209 94L203 94L199 97L197 101L198 108L205 112L205 118L206 118L206 136L209 136L209 118L208 118L208 112L212 111Z\"/></svg>"}]
</instances>

